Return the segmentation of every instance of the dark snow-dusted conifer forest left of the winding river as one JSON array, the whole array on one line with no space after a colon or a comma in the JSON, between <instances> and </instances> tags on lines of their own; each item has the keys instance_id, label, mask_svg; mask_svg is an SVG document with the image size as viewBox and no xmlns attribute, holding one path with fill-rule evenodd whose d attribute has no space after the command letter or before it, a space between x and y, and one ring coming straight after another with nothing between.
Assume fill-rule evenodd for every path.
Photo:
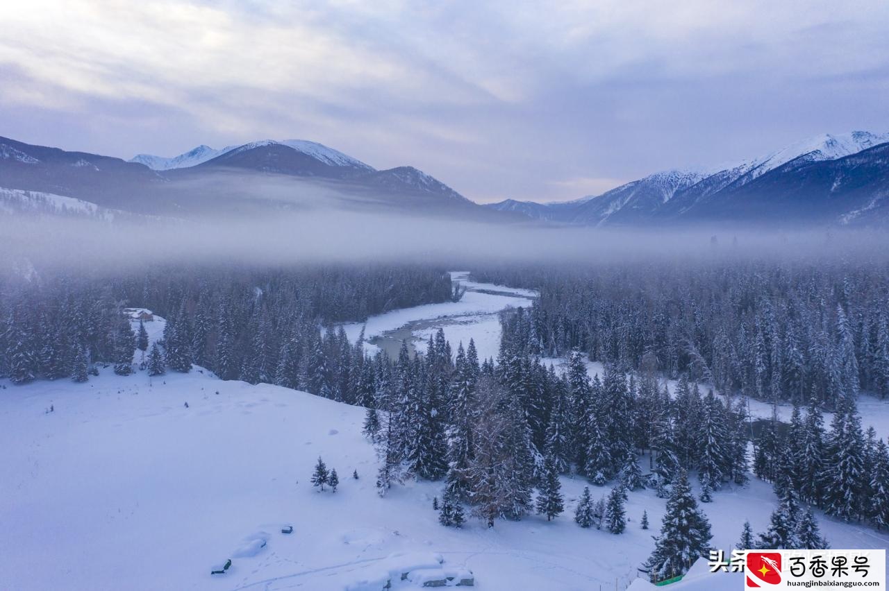
<instances>
[{"instance_id":1,"label":"dark snow-dusted conifer forest left of the winding river","mask_svg":"<svg viewBox=\"0 0 889 591\"><path fill-rule=\"evenodd\" d=\"M333 323L453 296L445 272L412 265L165 266L2 281L0 377L12 382L79 377L97 362L128 373L139 343L124 308L140 306L168 320L154 358L162 366L188 371L195 363L223 379L276 382L347 402L356 400L364 355Z\"/></svg>"}]
</instances>

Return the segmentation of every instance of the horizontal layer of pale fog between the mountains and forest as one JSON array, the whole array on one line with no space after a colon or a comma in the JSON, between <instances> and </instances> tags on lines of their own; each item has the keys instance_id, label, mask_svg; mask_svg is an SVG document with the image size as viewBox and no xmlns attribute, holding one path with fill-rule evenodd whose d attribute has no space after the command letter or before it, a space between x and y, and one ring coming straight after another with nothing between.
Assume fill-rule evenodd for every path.
<instances>
[{"instance_id":1,"label":"horizontal layer of pale fog between the mountains and forest","mask_svg":"<svg viewBox=\"0 0 889 591\"><path fill-rule=\"evenodd\" d=\"M109 271L156 263L527 261L586 264L659 256L862 256L889 252L885 232L605 231L310 210L201 219L0 217L0 257Z\"/></svg>"}]
</instances>

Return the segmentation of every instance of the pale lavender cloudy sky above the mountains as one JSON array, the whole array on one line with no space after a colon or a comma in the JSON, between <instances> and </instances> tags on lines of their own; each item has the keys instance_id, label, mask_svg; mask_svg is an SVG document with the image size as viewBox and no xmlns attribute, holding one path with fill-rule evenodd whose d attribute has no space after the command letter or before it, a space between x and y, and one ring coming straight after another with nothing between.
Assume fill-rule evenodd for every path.
<instances>
[{"instance_id":1,"label":"pale lavender cloudy sky above the mountains","mask_svg":"<svg viewBox=\"0 0 889 591\"><path fill-rule=\"evenodd\" d=\"M310 139L479 202L889 131L885 0L28 0L0 30L0 136Z\"/></svg>"}]
</instances>

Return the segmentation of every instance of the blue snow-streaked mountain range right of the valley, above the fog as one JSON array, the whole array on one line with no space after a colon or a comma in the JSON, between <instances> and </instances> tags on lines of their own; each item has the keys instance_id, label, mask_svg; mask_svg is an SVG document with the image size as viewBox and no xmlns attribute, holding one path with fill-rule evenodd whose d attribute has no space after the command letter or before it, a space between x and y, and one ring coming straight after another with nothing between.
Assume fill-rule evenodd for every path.
<instances>
[{"instance_id":1,"label":"blue snow-streaked mountain range right of the valley, above the fog","mask_svg":"<svg viewBox=\"0 0 889 591\"><path fill-rule=\"evenodd\" d=\"M880 215L877 204L882 203L881 187L889 169L881 168L880 152L870 150L887 142L889 133L823 134L716 170L667 170L576 201L507 200L487 207L516 211L535 219L596 226L789 220L871 223ZM854 165L827 164L856 154L862 158L850 161ZM864 162L869 159L874 162ZM841 174L842 177L837 176ZM832 188L825 193L814 182L815 177L831 179ZM788 193L780 193L781 190ZM810 201L805 201L799 191L812 192L806 193ZM794 207L804 210L796 212ZM775 218L777 211L789 217Z\"/></svg>"}]
</instances>

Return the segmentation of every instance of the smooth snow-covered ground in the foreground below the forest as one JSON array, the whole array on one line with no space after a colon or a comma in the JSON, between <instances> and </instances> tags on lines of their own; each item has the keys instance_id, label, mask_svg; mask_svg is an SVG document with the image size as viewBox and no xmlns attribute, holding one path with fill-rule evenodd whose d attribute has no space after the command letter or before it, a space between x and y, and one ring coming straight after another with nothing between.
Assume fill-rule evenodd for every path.
<instances>
[{"instance_id":1,"label":"smooth snow-covered ground in the foreground below the forest","mask_svg":"<svg viewBox=\"0 0 889 591\"><path fill-rule=\"evenodd\" d=\"M436 483L377 496L358 407L197 370L2 384L4 588L342 589L437 553L445 569L473 571L481 589L613 588L615 579L623 589L663 515L663 500L635 492L627 532L583 530L571 515L585 483L564 478L567 510L553 523L529 516L487 530L470 520L454 530L436 522ZM340 475L336 493L309 484L319 455ZM714 499L704 510L726 549L744 519L764 530L775 504L758 481ZM821 527L834 548L889 547L870 528L823 516ZM228 574L211 576L228 558Z\"/></svg>"}]
</instances>

